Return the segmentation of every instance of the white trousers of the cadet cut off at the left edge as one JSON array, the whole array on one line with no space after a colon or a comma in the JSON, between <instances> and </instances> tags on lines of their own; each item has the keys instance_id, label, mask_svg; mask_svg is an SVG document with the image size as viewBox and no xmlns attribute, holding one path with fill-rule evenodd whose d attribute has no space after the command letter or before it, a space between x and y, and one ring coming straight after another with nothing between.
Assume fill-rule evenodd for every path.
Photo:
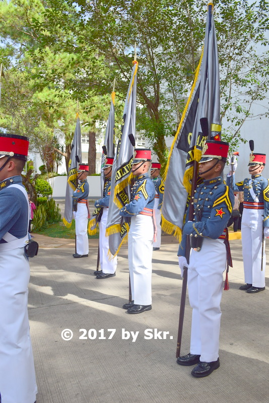
<instances>
[{"instance_id":1,"label":"white trousers of the cadet cut off at the left edge","mask_svg":"<svg viewBox=\"0 0 269 403\"><path fill-rule=\"evenodd\" d=\"M0 256L0 393L2 403L34 403L37 386L28 319L30 266L24 248Z\"/></svg>"}]
</instances>

